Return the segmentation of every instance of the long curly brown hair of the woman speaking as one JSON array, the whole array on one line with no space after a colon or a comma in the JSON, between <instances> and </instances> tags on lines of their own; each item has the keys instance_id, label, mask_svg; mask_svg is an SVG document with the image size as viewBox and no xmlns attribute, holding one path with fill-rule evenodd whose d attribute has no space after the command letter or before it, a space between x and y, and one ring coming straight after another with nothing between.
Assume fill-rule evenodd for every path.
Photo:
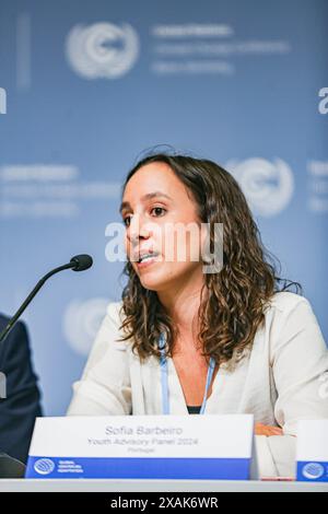
<instances>
[{"instance_id":1,"label":"long curly brown hair of the woman speaking","mask_svg":"<svg viewBox=\"0 0 328 514\"><path fill-rule=\"evenodd\" d=\"M203 223L223 224L223 267L220 272L204 274L198 340L208 361L212 357L219 365L238 362L251 349L272 295L292 284L302 294L302 287L277 277L280 262L263 247L246 198L227 171L209 160L155 153L143 157L128 173L122 194L132 175L150 163L171 167L191 192ZM166 355L172 357L177 330L156 292L142 287L129 260L122 274L128 277L120 312L120 329L126 336L119 340L132 338L132 350L143 361L150 355L160 358L157 341L164 332Z\"/></svg>"}]
</instances>

